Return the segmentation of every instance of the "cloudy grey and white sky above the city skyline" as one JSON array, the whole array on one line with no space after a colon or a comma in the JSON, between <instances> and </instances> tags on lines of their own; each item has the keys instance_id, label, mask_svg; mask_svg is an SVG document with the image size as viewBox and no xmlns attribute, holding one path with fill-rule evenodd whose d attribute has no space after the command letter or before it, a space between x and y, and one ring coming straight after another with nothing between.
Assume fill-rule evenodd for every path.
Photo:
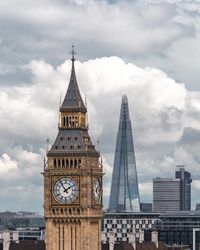
<instances>
[{"instance_id":1,"label":"cloudy grey and white sky above the city skyline","mask_svg":"<svg viewBox=\"0 0 200 250\"><path fill-rule=\"evenodd\" d=\"M152 179L191 172L200 202L200 1L0 1L0 211L43 213L43 159L60 97L69 83L72 44L87 100L89 134L100 139L104 208L121 97L132 121L139 190Z\"/></svg>"}]
</instances>

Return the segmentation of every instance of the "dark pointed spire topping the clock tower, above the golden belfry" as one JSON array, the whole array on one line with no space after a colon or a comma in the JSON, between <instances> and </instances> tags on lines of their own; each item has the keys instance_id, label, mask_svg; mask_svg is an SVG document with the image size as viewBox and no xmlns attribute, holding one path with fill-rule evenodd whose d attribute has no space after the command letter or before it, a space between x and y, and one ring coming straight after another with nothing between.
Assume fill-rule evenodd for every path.
<instances>
[{"instance_id":1,"label":"dark pointed spire topping the clock tower, above the golden belfry","mask_svg":"<svg viewBox=\"0 0 200 250\"><path fill-rule=\"evenodd\" d=\"M70 81L69 81L69 86L67 89L67 93L65 95L65 98L63 100L63 103L60 107L60 111L69 111L69 110L78 110L78 111L83 111L87 112L87 109L84 105L84 102L82 100L78 83L76 80L76 73L75 73L75 50L74 50L74 45L72 45L72 51L71 51L71 61L72 61L72 68L71 68L71 76L70 76Z\"/></svg>"}]
</instances>

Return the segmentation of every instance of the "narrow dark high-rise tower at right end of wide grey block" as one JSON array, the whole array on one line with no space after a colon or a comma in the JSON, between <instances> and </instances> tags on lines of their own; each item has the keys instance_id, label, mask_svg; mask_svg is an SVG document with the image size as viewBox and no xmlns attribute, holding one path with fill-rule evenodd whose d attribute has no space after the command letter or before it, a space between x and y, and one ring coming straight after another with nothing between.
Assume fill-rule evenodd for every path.
<instances>
[{"instance_id":1,"label":"narrow dark high-rise tower at right end of wide grey block","mask_svg":"<svg viewBox=\"0 0 200 250\"><path fill-rule=\"evenodd\" d=\"M180 179L180 210L191 210L191 174L185 171L184 165L178 165L175 177Z\"/></svg>"}]
</instances>

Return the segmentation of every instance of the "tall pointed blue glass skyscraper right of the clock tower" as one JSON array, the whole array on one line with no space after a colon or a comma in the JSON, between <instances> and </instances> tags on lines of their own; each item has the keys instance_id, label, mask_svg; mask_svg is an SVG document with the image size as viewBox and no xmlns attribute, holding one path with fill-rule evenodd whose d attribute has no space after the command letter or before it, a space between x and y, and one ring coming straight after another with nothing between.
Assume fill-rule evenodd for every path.
<instances>
[{"instance_id":1,"label":"tall pointed blue glass skyscraper right of the clock tower","mask_svg":"<svg viewBox=\"0 0 200 250\"><path fill-rule=\"evenodd\" d=\"M138 189L135 153L128 100L122 96L109 212L139 212L140 196Z\"/></svg>"}]
</instances>

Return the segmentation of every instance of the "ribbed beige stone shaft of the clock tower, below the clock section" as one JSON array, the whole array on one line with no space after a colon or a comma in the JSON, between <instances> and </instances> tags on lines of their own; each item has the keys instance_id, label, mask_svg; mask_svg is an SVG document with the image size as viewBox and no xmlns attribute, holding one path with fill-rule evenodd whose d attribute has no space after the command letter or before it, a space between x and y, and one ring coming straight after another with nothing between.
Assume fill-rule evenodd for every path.
<instances>
[{"instance_id":1,"label":"ribbed beige stone shaft of the clock tower, below the clock section","mask_svg":"<svg viewBox=\"0 0 200 250\"><path fill-rule=\"evenodd\" d=\"M46 250L100 250L99 220L46 220Z\"/></svg>"}]
</instances>

